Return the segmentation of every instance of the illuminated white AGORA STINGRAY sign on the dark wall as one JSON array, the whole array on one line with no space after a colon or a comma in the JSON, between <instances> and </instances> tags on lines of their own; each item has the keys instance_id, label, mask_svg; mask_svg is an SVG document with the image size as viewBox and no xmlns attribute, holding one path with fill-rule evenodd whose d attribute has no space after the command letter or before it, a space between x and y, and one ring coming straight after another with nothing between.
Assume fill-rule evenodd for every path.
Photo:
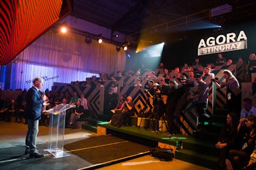
<instances>
[{"instance_id":1,"label":"illuminated white AGORA STINGRAY sign on the dark wall","mask_svg":"<svg viewBox=\"0 0 256 170\"><path fill-rule=\"evenodd\" d=\"M236 33L230 32L226 35L219 35L216 38L209 37L206 41L201 39L198 44L198 55L244 50L246 48L247 37L244 31L240 31L238 36Z\"/></svg>"}]
</instances>

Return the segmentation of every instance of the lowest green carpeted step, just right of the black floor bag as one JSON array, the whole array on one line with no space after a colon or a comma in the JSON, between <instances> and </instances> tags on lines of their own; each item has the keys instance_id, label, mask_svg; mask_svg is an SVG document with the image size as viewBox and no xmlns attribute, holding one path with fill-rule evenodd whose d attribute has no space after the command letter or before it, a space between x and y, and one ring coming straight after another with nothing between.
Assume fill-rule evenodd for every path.
<instances>
[{"instance_id":1,"label":"lowest green carpeted step, just right of the black floor bag","mask_svg":"<svg viewBox=\"0 0 256 170\"><path fill-rule=\"evenodd\" d=\"M202 154L191 150L176 150L175 159L184 160L198 166L207 167L209 169L218 169L218 157L209 154Z\"/></svg>"}]
</instances>

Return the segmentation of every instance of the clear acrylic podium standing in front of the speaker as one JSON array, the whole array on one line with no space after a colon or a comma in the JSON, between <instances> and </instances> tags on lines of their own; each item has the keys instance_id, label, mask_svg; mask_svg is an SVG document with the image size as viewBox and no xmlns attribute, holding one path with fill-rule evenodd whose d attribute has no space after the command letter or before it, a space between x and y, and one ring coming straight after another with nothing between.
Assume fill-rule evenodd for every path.
<instances>
[{"instance_id":1,"label":"clear acrylic podium standing in front of the speaker","mask_svg":"<svg viewBox=\"0 0 256 170\"><path fill-rule=\"evenodd\" d=\"M65 117L66 110L70 108L75 108L76 105L71 104L60 104L51 108L50 110L45 110L49 113L49 143L48 148L44 151L54 155L54 159L61 157L68 157L69 154L63 152L64 146L64 135L65 135Z\"/></svg>"}]
</instances>

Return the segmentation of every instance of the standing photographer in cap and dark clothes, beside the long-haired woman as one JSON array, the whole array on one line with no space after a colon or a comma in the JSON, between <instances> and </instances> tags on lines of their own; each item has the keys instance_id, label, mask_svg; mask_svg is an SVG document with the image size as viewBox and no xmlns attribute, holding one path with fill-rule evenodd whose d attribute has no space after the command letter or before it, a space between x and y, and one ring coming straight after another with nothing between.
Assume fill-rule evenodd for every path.
<instances>
[{"instance_id":1,"label":"standing photographer in cap and dark clothes, beside the long-haired woman","mask_svg":"<svg viewBox=\"0 0 256 170\"><path fill-rule=\"evenodd\" d=\"M189 96L189 99L197 99L195 103L196 112L198 114L200 129L197 132L205 132L204 122L205 122L205 111L208 106L208 96L209 87L205 81L203 81L200 74L195 74L196 82L198 83L198 89L193 96Z\"/></svg>"}]
</instances>

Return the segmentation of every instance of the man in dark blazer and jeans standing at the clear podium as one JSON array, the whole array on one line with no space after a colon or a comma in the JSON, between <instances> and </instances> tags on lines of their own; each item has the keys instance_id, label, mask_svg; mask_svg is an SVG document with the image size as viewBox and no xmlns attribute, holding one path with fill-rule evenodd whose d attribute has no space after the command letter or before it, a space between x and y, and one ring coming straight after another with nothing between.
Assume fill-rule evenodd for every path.
<instances>
[{"instance_id":1,"label":"man in dark blazer and jeans standing at the clear podium","mask_svg":"<svg viewBox=\"0 0 256 170\"><path fill-rule=\"evenodd\" d=\"M38 122L41 118L42 107L47 106L46 96L41 96L39 89L43 86L42 78L35 78L33 80L33 87L28 90L26 96L26 112L25 118L28 120L28 132L26 136L26 151L25 155L29 153L30 158L41 158L43 154L36 150L36 136L38 134Z\"/></svg>"}]
</instances>

